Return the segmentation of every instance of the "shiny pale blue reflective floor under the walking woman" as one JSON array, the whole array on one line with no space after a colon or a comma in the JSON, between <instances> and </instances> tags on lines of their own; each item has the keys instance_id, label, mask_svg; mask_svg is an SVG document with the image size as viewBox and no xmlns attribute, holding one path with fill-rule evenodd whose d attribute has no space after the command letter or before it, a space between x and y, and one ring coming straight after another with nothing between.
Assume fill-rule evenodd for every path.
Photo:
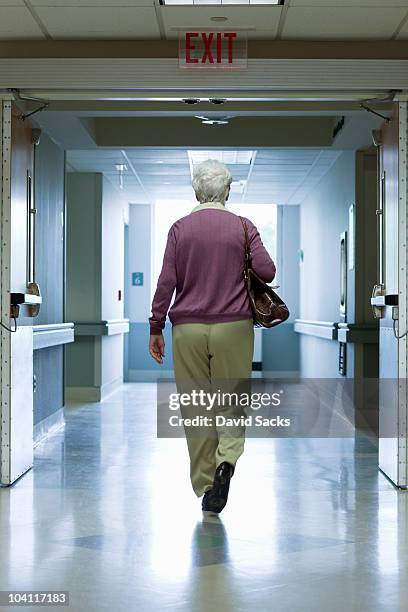
<instances>
[{"instance_id":1,"label":"shiny pale blue reflective floor under the walking woman","mask_svg":"<svg viewBox=\"0 0 408 612\"><path fill-rule=\"evenodd\" d=\"M0 489L0 590L66 590L72 612L407 610L407 494L372 446L248 439L226 509L203 520L155 399L134 383L68 408Z\"/></svg>"}]
</instances>

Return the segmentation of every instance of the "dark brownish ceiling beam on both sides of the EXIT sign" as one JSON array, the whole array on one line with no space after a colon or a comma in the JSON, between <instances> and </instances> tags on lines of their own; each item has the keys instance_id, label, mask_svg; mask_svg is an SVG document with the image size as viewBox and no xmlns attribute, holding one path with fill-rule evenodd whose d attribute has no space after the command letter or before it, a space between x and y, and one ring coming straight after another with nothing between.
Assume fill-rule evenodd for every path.
<instances>
[{"instance_id":1,"label":"dark brownish ceiling beam on both sides of the EXIT sign","mask_svg":"<svg viewBox=\"0 0 408 612\"><path fill-rule=\"evenodd\" d=\"M177 57L177 40L1 41L2 58L40 57ZM408 59L408 41L249 40L253 59Z\"/></svg>"}]
</instances>

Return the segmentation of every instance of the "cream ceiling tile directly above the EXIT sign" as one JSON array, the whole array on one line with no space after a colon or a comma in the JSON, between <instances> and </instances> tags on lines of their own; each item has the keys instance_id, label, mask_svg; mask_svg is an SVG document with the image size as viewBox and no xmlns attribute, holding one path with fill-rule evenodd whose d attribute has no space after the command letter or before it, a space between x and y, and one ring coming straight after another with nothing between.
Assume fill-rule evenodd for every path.
<instances>
[{"instance_id":1,"label":"cream ceiling tile directly above the EXIT sign","mask_svg":"<svg viewBox=\"0 0 408 612\"><path fill-rule=\"evenodd\" d=\"M282 7L280 6L163 6L163 22L168 38L177 38L177 28L192 26L216 29L211 17L227 17L223 29L248 28L249 38L275 37Z\"/></svg>"}]
</instances>

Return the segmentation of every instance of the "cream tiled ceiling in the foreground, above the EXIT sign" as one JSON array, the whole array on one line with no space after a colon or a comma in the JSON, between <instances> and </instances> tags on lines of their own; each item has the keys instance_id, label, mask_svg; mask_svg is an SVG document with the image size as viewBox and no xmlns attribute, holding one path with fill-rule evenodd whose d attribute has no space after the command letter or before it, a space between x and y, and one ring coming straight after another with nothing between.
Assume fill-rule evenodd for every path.
<instances>
[{"instance_id":1,"label":"cream tiled ceiling in the foreground, above the EXIT sign","mask_svg":"<svg viewBox=\"0 0 408 612\"><path fill-rule=\"evenodd\" d=\"M158 0L0 0L0 40L174 39L179 28L247 28L250 39L405 40L408 0L161 6Z\"/></svg>"}]
</instances>

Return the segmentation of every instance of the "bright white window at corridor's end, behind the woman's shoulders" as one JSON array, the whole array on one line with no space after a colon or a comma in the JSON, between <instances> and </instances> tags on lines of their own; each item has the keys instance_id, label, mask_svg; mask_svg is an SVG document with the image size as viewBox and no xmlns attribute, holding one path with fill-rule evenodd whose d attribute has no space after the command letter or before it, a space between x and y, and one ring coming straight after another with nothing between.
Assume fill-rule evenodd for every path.
<instances>
[{"instance_id":1,"label":"bright white window at corridor's end, behind the woman's shoulders","mask_svg":"<svg viewBox=\"0 0 408 612\"><path fill-rule=\"evenodd\" d=\"M168 231L177 219L188 215L196 204L197 202L190 200L158 200L155 202L152 236L152 297L163 263ZM247 217L256 225L265 248L276 261L277 206L275 204L229 204L227 202L227 208L236 215Z\"/></svg>"}]
</instances>

